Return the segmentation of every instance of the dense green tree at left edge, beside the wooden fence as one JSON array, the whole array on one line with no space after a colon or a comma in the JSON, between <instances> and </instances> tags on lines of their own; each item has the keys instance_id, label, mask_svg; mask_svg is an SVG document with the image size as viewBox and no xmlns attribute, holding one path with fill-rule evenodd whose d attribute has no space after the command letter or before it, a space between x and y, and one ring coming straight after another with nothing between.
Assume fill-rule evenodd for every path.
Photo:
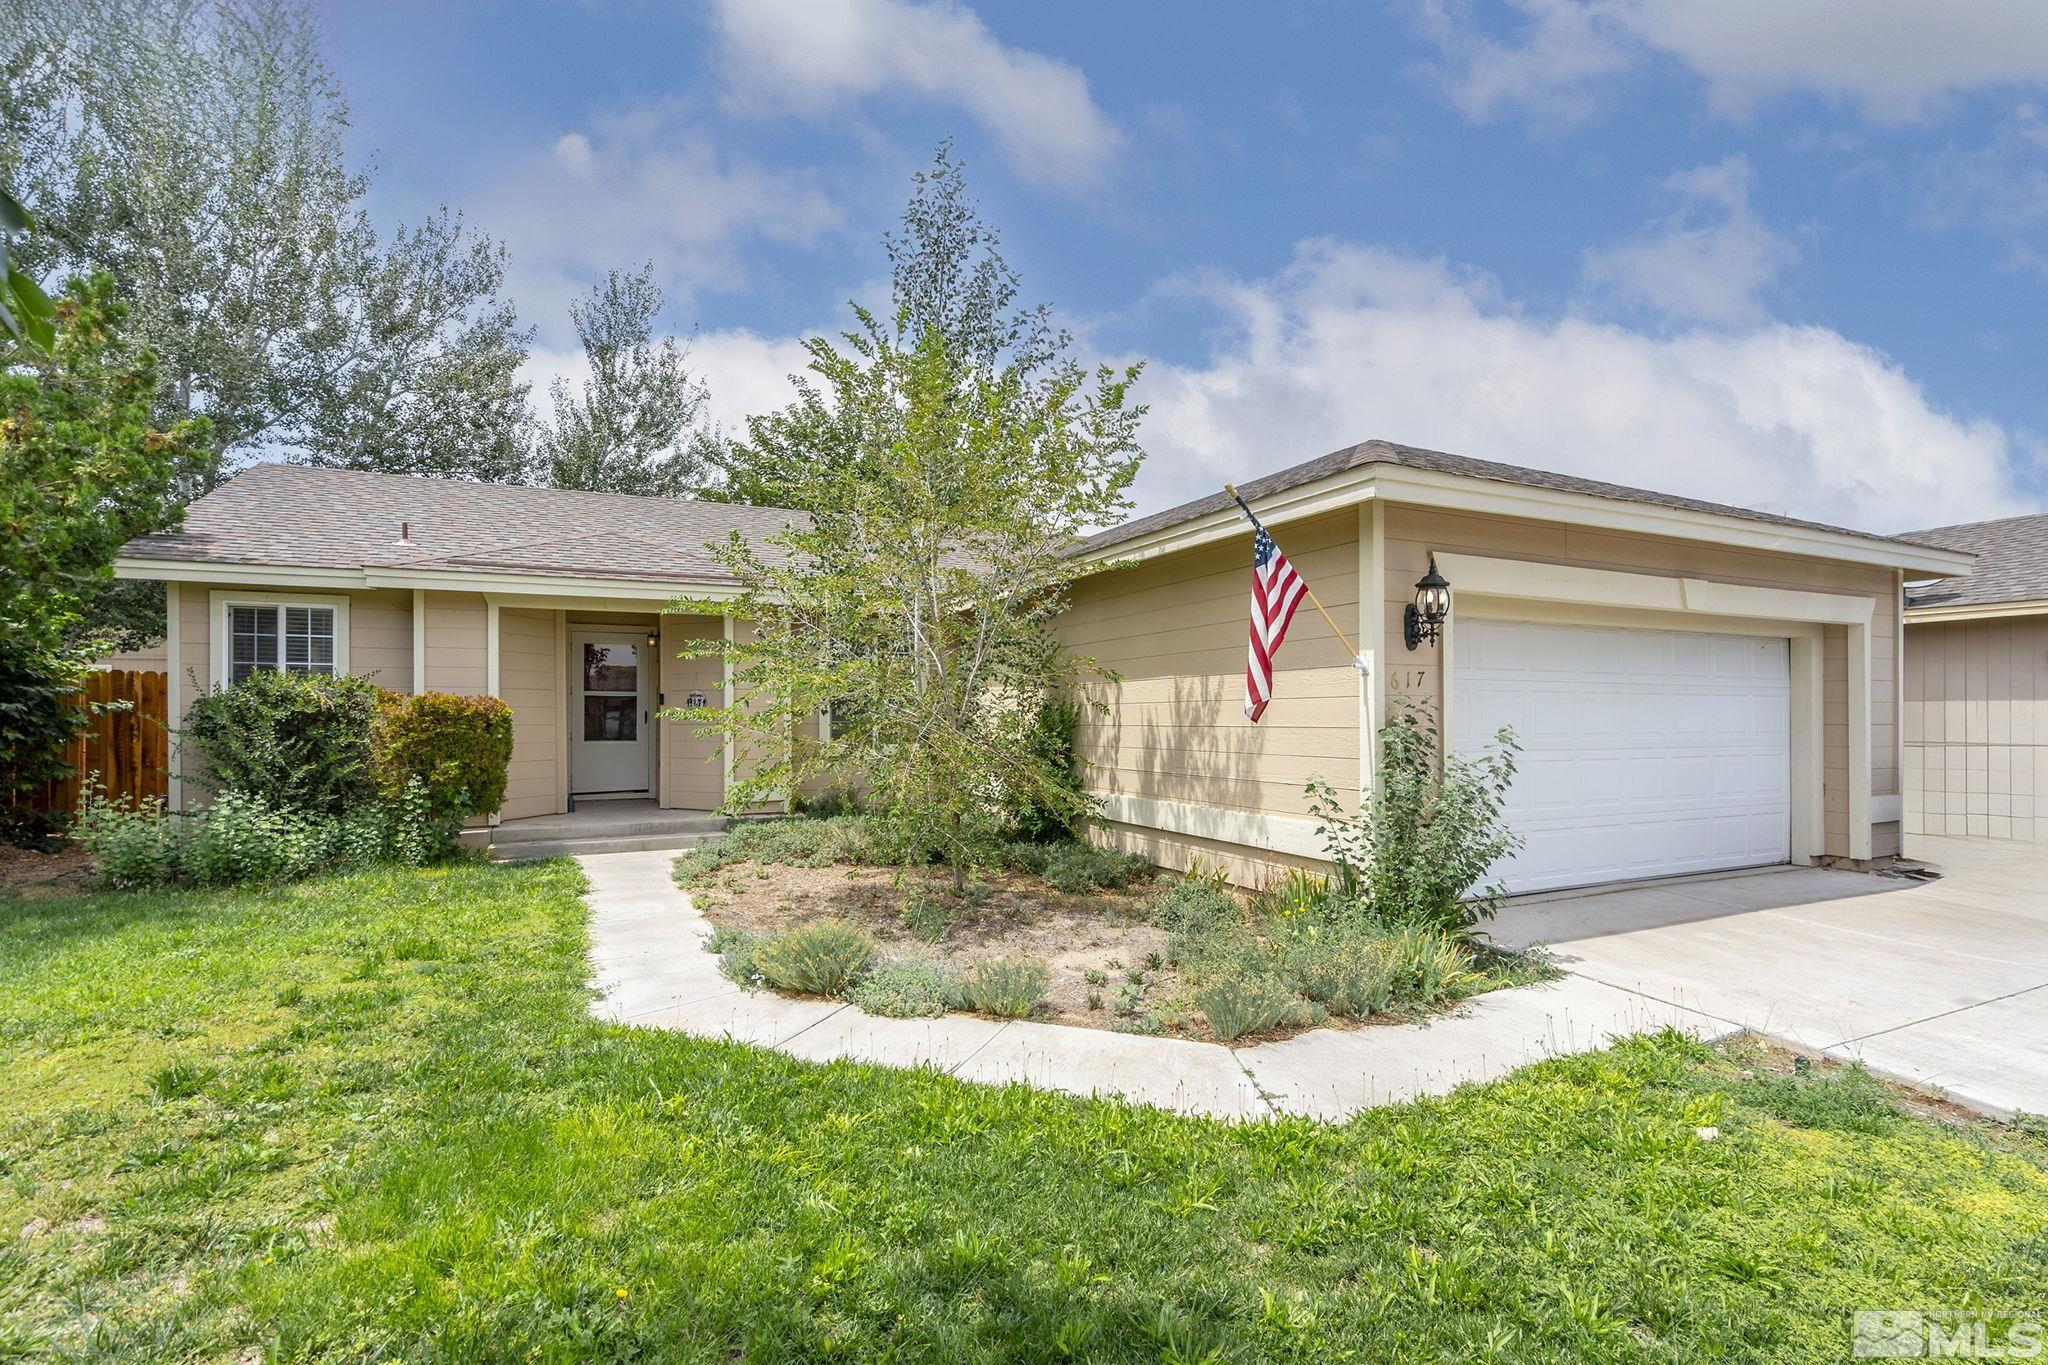
<instances>
[{"instance_id":1,"label":"dense green tree at left edge, beside the wooden fence","mask_svg":"<svg viewBox=\"0 0 2048 1365\"><path fill-rule=\"evenodd\" d=\"M203 417L154 422L156 370L123 344L123 313L109 276L74 280L49 354L0 350L0 812L63 776L104 645L78 622L121 544L176 522L176 485L207 458ZM8 837L43 833L12 817Z\"/></svg>"}]
</instances>

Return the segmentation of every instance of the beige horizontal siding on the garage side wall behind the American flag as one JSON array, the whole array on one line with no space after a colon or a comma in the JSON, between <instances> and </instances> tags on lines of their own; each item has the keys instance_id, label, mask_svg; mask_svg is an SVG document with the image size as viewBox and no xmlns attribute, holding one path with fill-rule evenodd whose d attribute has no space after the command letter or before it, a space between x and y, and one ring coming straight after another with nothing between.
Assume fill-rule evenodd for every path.
<instances>
[{"instance_id":1,"label":"beige horizontal siding on the garage side wall behind the American flag","mask_svg":"<svg viewBox=\"0 0 2048 1365\"><path fill-rule=\"evenodd\" d=\"M1356 632L1356 510L1276 528L1276 538L1331 616ZM1296 819L1309 812L1311 778L1329 780L1346 802L1358 798L1358 671L1307 602L1276 659L1264 720L1245 718L1249 591L1249 534L1075 585L1059 636L1116 675L1081 686L1087 702L1102 704L1083 710L1075 743L1092 792ZM1303 862L1116 821L1106 833L1163 866L1229 862L1249 880Z\"/></svg>"}]
</instances>

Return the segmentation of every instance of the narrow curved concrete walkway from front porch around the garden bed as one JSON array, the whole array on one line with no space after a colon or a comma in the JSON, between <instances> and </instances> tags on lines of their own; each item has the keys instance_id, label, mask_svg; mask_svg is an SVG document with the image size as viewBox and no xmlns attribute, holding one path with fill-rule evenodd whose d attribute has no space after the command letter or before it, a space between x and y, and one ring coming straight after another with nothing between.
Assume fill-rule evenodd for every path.
<instances>
[{"instance_id":1,"label":"narrow curved concrete walkway from front porch around the garden bed","mask_svg":"<svg viewBox=\"0 0 2048 1365\"><path fill-rule=\"evenodd\" d=\"M879 1019L836 1001L739 990L719 976L717 958L702 952L711 925L670 878L674 853L578 862L590 878L598 1017L817 1062L932 1066L963 1081L1122 1095L1221 1117L1337 1119L1663 1025L1702 1038L1733 1031L1696 1009L1587 976L1495 990L1430 1023L1311 1029L1251 1048L973 1015Z\"/></svg>"}]
</instances>

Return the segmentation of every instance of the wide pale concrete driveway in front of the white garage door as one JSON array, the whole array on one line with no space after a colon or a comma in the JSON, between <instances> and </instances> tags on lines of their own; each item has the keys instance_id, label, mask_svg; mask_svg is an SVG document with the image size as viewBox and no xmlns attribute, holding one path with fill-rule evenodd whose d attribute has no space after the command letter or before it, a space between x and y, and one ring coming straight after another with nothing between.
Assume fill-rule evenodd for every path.
<instances>
[{"instance_id":1,"label":"wide pale concrete driveway in front of the white garage door","mask_svg":"<svg viewBox=\"0 0 2048 1365\"><path fill-rule=\"evenodd\" d=\"M1909 853L1942 878L1776 868L1532 896L1491 929L1987 1113L2048 1113L2048 847L1915 839Z\"/></svg>"}]
</instances>

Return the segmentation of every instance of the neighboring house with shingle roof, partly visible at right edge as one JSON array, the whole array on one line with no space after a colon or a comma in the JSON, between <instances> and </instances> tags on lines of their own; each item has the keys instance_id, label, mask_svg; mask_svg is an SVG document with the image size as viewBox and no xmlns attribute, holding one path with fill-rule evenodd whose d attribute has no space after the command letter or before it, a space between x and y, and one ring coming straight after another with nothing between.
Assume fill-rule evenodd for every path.
<instances>
[{"instance_id":1,"label":"neighboring house with shingle roof, partly visible at right edge","mask_svg":"<svg viewBox=\"0 0 2048 1365\"><path fill-rule=\"evenodd\" d=\"M1913 538L1976 569L1907 589L1907 833L2048 841L2048 514Z\"/></svg>"}]
</instances>

